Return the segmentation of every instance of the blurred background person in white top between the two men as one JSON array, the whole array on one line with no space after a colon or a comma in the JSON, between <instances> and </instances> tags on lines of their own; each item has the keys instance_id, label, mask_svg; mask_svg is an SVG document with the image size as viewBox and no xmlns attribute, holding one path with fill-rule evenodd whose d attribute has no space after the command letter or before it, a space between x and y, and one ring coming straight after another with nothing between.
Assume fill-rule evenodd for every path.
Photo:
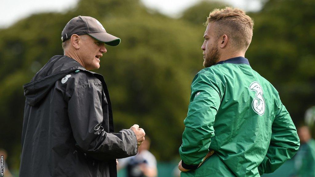
<instances>
[{"instance_id":1,"label":"blurred background person in white top between the two men","mask_svg":"<svg viewBox=\"0 0 315 177\"><path fill-rule=\"evenodd\" d=\"M126 168L127 177L156 177L157 160L149 151L150 138L146 136L135 156L118 159L117 170Z\"/></svg>"}]
</instances>

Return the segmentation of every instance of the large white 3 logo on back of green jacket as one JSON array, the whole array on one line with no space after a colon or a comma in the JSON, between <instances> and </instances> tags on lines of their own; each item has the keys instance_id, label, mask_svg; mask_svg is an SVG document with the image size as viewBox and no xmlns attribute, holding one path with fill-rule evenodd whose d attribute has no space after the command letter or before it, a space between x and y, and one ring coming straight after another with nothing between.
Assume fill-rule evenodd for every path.
<instances>
[{"instance_id":1,"label":"large white 3 logo on back of green jacket","mask_svg":"<svg viewBox=\"0 0 315 177\"><path fill-rule=\"evenodd\" d=\"M264 94L261 88L261 85L254 81L249 85L249 89L256 92L255 98L252 102L252 108L253 110L260 116L264 115L265 113L265 99L262 97Z\"/></svg>"}]
</instances>

